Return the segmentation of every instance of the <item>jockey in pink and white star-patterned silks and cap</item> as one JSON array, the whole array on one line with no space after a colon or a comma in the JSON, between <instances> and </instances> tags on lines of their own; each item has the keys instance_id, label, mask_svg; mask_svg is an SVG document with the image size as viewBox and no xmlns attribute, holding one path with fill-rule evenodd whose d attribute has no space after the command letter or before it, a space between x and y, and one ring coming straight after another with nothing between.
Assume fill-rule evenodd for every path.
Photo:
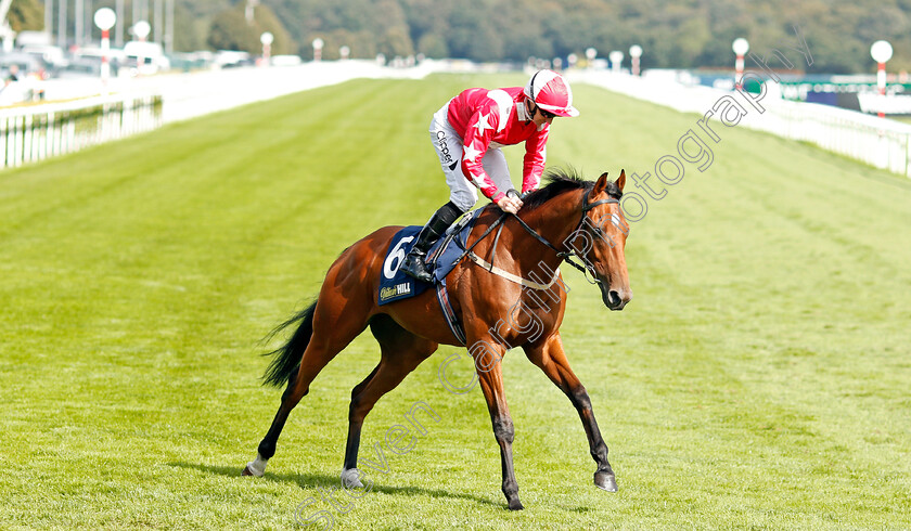
<instances>
[{"instance_id":1,"label":"jockey in pink and white star-patterned silks and cap","mask_svg":"<svg viewBox=\"0 0 911 531\"><path fill-rule=\"evenodd\" d=\"M433 282L424 259L449 225L471 210L477 190L504 212L516 213L522 198L510 181L504 145L525 142L522 194L537 190L544 170L546 145L555 116L573 117L573 91L560 74L539 70L523 89L467 89L434 115L431 142L439 156L449 203L421 230L401 270L420 281Z\"/></svg>"}]
</instances>

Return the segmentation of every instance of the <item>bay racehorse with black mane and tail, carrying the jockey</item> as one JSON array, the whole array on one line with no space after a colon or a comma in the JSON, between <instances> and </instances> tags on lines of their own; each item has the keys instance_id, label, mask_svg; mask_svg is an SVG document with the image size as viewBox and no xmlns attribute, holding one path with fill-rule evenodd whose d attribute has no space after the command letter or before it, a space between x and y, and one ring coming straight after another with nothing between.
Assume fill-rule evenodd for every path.
<instances>
[{"instance_id":1,"label":"bay racehorse with black mane and tail, carrying the jockey","mask_svg":"<svg viewBox=\"0 0 911 531\"><path fill-rule=\"evenodd\" d=\"M632 298L624 254L629 225L619 204L626 172L621 171L616 181L608 180L605 172L593 182L581 179L575 170L551 170L547 179L544 186L527 194L517 215L506 215L492 205L486 207L470 236L474 239L470 247L474 259L459 261L446 277L446 293L463 325L464 345L471 346L469 353L500 446L502 491L512 510L523 505L512 458L515 429L499 361L513 347L522 347L528 360L578 411L596 464L594 484L610 492L618 490L591 400L569 367L561 340L560 325L566 308L561 292L566 290L559 267L567 260L589 273L593 277L589 282L598 284L611 310L623 310ZM496 238L486 237L495 226ZM286 342L271 352L273 359L264 376L265 384L285 386L285 390L244 476L264 475L288 414L309 392L313 378L369 326L380 344L381 359L351 391L341 476L343 487L362 487L358 448L368 413L439 345L462 346L433 289L378 306L384 256L400 229L385 226L345 249L329 269L316 301L277 328L297 325ZM578 241L582 242L581 248ZM572 262L570 255L582 259L585 266ZM528 281L549 273L549 285ZM525 324L518 322L519 313Z\"/></svg>"}]
</instances>

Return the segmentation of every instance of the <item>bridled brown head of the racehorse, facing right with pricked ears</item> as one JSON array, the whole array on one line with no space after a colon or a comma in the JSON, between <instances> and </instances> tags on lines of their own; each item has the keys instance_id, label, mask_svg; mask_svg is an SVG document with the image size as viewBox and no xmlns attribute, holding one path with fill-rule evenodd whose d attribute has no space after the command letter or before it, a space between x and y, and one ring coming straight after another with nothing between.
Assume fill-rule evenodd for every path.
<instances>
[{"instance_id":1,"label":"bridled brown head of the racehorse, facing right with pricked ears","mask_svg":"<svg viewBox=\"0 0 911 531\"><path fill-rule=\"evenodd\" d=\"M629 273L626 268L626 238L629 224L620 208L626 184L626 171L615 181L603 173L588 193L582 207L582 220L574 235L573 247L598 280L601 299L611 310L623 310L632 299ZM579 244L580 242L585 244Z\"/></svg>"}]
</instances>

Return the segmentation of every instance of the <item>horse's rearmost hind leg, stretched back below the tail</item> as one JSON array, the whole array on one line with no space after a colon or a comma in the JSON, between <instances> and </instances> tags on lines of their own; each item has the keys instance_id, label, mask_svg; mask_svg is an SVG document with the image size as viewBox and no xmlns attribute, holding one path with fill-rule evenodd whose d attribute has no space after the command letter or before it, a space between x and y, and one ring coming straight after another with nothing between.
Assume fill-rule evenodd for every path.
<instances>
[{"instance_id":1,"label":"horse's rearmost hind leg, stretched back below the tail","mask_svg":"<svg viewBox=\"0 0 911 531\"><path fill-rule=\"evenodd\" d=\"M282 403L269 431L257 448L256 459L244 468L244 476L265 474L266 462L275 454L275 443L282 428L291 411L309 392L310 383L338 352L367 328L367 310L358 312L350 306L342 301L334 303L331 297L320 296L313 313L312 336L300 358L300 364L288 377L287 388L282 393Z\"/></svg>"}]
</instances>

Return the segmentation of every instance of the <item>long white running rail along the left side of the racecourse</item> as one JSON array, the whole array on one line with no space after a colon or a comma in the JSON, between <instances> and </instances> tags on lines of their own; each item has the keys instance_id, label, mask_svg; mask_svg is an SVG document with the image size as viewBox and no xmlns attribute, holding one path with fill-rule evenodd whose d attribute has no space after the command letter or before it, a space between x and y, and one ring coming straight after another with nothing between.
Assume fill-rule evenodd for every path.
<instances>
[{"instance_id":1,"label":"long white running rail along the left side of the racecourse","mask_svg":"<svg viewBox=\"0 0 911 531\"><path fill-rule=\"evenodd\" d=\"M434 61L411 67L334 61L118 78L110 89L120 95L107 99L85 98L101 92L100 79L52 80L43 86L48 98L73 101L0 108L0 169L316 87L363 77L415 79L445 67Z\"/></svg>"}]
</instances>

